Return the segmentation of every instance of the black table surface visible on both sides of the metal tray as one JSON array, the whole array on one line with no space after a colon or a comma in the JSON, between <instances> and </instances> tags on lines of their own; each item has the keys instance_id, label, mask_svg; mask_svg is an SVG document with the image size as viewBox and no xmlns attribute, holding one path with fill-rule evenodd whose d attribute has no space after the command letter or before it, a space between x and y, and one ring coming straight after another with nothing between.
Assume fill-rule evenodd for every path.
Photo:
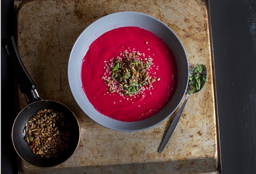
<instances>
[{"instance_id":1,"label":"black table surface visible on both sides of the metal tray","mask_svg":"<svg viewBox=\"0 0 256 174\"><path fill-rule=\"evenodd\" d=\"M256 0L209 0L222 174L256 174ZM14 33L13 0L1 0L1 38ZM1 173L18 173L11 142L15 75L1 46Z\"/></svg>"}]
</instances>

